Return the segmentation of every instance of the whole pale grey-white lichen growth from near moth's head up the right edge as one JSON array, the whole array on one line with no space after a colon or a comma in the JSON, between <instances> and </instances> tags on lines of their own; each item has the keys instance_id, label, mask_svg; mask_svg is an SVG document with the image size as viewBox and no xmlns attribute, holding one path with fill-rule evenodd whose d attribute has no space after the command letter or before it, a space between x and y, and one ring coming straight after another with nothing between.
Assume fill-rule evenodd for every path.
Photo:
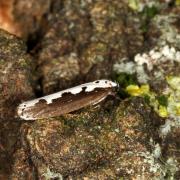
<instances>
[{"instance_id":1,"label":"whole pale grey-white lichen growth from near moth's head up the right edge","mask_svg":"<svg viewBox=\"0 0 180 180\"><path fill-rule=\"evenodd\" d=\"M165 76L169 73L167 68L172 71L171 69L176 68L180 62L180 34L174 25L177 20L178 15L175 14L156 15L151 23L161 32L155 40L156 46L149 52L137 54L133 62L128 62L127 58L121 59L114 65L114 71L136 74L139 83L143 84L149 80L156 82L165 80Z\"/></svg>"}]
</instances>

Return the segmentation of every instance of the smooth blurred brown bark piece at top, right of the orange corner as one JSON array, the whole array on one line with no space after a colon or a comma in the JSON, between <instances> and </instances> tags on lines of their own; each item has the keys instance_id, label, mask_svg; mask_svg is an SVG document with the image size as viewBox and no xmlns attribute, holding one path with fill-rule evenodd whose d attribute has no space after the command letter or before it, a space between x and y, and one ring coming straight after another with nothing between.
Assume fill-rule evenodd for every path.
<instances>
[{"instance_id":1,"label":"smooth blurred brown bark piece at top, right of the orange corner","mask_svg":"<svg viewBox=\"0 0 180 180\"><path fill-rule=\"evenodd\" d=\"M50 11L51 0L14 0L13 16L21 29L21 36L27 37L40 31L45 15Z\"/></svg>"}]
</instances>

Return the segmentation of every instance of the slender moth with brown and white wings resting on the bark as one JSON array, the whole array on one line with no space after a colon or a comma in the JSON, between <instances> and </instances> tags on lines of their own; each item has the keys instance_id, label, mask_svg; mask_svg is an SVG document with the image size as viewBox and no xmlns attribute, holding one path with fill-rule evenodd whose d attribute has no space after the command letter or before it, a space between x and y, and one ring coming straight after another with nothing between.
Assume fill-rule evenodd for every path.
<instances>
[{"instance_id":1,"label":"slender moth with brown and white wings resting on the bark","mask_svg":"<svg viewBox=\"0 0 180 180\"><path fill-rule=\"evenodd\" d=\"M26 101L17 107L23 120L36 120L67 114L88 105L94 105L114 94L118 84L109 80L96 80L54 94Z\"/></svg>"}]
</instances>

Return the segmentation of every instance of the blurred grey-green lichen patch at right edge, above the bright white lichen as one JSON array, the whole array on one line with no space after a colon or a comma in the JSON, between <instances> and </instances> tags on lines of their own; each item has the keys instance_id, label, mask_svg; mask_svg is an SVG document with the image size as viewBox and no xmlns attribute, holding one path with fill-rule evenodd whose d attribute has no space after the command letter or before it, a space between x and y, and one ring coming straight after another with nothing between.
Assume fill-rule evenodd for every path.
<instances>
[{"instance_id":1,"label":"blurred grey-green lichen patch at right edge, above the bright white lichen","mask_svg":"<svg viewBox=\"0 0 180 180\"><path fill-rule=\"evenodd\" d=\"M157 46L164 46L166 44L179 49L180 47L180 35L179 35L179 22L178 16L180 10L176 10L156 15L148 29L148 43Z\"/></svg>"}]
</instances>

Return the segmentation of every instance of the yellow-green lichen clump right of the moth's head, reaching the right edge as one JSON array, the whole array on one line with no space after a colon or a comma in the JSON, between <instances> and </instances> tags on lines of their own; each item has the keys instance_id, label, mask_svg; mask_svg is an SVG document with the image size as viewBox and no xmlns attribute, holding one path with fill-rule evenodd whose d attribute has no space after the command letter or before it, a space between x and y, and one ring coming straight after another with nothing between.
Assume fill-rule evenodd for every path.
<instances>
[{"instance_id":1,"label":"yellow-green lichen clump right of the moth's head, reaching the right edge","mask_svg":"<svg viewBox=\"0 0 180 180\"><path fill-rule=\"evenodd\" d=\"M180 117L180 77L167 77L168 88L157 95L146 85L128 85L125 90L131 96L144 97L161 117ZM147 101L148 100L148 101Z\"/></svg>"}]
</instances>

